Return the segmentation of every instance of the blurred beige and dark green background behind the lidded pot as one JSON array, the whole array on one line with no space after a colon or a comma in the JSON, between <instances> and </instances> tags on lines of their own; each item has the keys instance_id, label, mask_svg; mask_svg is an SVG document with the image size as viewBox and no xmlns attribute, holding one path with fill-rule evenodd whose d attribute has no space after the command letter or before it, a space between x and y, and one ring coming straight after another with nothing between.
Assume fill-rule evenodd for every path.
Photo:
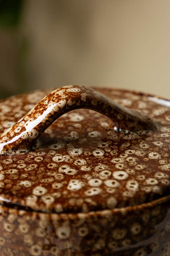
<instances>
[{"instance_id":1,"label":"blurred beige and dark green background behind the lidded pot","mask_svg":"<svg viewBox=\"0 0 170 256\"><path fill-rule=\"evenodd\" d=\"M0 98L69 84L170 99L169 0L0 0Z\"/></svg>"}]
</instances>

